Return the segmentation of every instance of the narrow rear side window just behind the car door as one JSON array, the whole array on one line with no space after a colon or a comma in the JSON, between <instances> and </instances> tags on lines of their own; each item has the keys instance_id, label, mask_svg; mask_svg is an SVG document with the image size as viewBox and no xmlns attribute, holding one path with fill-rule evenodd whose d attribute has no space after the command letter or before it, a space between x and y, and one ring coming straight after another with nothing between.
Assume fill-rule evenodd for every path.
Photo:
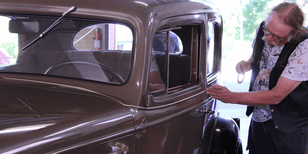
<instances>
[{"instance_id":1,"label":"narrow rear side window just behind the car door","mask_svg":"<svg viewBox=\"0 0 308 154\"><path fill-rule=\"evenodd\" d=\"M207 75L211 74L215 68L215 29L214 23L208 23L208 35L207 35Z\"/></svg>"}]
</instances>

